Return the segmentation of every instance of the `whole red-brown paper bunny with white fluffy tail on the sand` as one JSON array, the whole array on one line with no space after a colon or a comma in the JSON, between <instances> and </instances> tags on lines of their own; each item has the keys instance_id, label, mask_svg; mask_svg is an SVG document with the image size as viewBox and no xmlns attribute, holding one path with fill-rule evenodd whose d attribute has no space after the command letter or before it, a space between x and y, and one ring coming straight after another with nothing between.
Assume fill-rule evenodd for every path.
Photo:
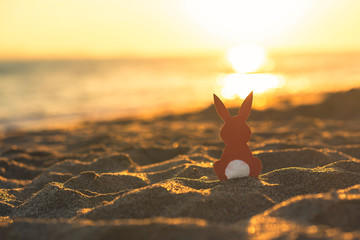
<instances>
[{"instance_id":1,"label":"whole red-brown paper bunny with white fluffy tail on the sand","mask_svg":"<svg viewBox=\"0 0 360 240\"><path fill-rule=\"evenodd\" d=\"M238 177L258 177L261 172L261 161L255 158L247 142L251 131L246 124L251 110L253 93L251 92L240 107L237 116L231 117L223 102L214 94L214 104L217 113L225 124L220 137L225 143L220 160L214 163L214 170L220 180Z\"/></svg>"}]
</instances>

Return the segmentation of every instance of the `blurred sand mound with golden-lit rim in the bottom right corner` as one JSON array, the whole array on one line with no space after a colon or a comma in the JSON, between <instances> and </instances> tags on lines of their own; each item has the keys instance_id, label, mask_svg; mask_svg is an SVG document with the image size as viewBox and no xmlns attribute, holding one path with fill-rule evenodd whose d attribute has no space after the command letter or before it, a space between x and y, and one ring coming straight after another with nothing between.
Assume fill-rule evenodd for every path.
<instances>
[{"instance_id":1,"label":"blurred sand mound with golden-lit rim in the bottom right corner","mask_svg":"<svg viewBox=\"0 0 360 240\"><path fill-rule=\"evenodd\" d=\"M284 201L253 217L249 229L254 238L261 239L288 235L302 239L358 239L359 221L360 185L355 185Z\"/></svg>"}]
</instances>

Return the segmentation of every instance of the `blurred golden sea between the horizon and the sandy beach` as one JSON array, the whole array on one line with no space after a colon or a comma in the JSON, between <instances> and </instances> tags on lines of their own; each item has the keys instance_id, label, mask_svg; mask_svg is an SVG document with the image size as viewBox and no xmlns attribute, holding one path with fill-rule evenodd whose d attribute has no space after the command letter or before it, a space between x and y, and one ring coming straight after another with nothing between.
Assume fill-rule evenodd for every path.
<instances>
[{"instance_id":1,"label":"blurred golden sea between the horizon and the sandy beach","mask_svg":"<svg viewBox=\"0 0 360 240\"><path fill-rule=\"evenodd\" d=\"M260 79L276 77L281 84L255 91L255 108L288 104L288 99L306 104L310 98L296 96L317 99L314 96L326 92L360 87L359 53L273 54L269 59L271 68L251 74ZM221 96L223 80L231 74L233 70L219 56L1 61L0 130L197 110L212 103L213 93ZM257 87L255 78L232 76L245 76L234 81L254 81ZM256 99L262 104L257 106Z\"/></svg>"}]
</instances>

